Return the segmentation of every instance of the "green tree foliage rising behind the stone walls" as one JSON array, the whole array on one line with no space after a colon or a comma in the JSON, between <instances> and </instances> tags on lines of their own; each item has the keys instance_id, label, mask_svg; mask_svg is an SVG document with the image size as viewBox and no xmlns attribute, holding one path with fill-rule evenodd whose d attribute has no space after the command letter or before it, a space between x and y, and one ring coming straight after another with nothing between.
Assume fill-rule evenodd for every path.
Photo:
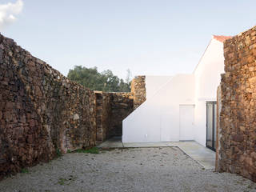
<instances>
[{"instance_id":1,"label":"green tree foliage rising behind the stone walls","mask_svg":"<svg viewBox=\"0 0 256 192\"><path fill-rule=\"evenodd\" d=\"M102 90L105 92L130 92L130 70L127 70L126 80L118 78L111 70L99 73L97 67L86 68L85 66L74 66L67 75L74 82L86 86L90 90Z\"/></svg>"}]
</instances>

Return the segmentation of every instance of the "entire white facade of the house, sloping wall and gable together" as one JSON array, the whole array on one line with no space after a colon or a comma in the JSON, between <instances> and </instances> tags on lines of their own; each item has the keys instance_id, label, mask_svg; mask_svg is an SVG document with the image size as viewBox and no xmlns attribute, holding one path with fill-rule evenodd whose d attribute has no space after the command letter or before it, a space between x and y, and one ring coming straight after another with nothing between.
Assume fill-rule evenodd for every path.
<instances>
[{"instance_id":1,"label":"entire white facade of the house, sloping wall and gable together","mask_svg":"<svg viewBox=\"0 0 256 192\"><path fill-rule=\"evenodd\" d=\"M146 76L146 102L123 120L122 142L206 146L206 102L216 101L223 72L223 43L212 38L193 74Z\"/></svg>"}]
</instances>

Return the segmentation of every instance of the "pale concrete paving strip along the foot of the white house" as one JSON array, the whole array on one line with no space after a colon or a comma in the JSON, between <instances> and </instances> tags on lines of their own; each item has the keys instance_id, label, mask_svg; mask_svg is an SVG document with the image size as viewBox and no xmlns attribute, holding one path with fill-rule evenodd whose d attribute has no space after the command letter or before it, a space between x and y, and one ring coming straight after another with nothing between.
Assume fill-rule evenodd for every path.
<instances>
[{"instance_id":1,"label":"pale concrete paving strip along the foot of the white house","mask_svg":"<svg viewBox=\"0 0 256 192\"><path fill-rule=\"evenodd\" d=\"M215 168L215 152L198 144L198 142L129 142L122 143L121 137L110 138L103 142L99 148L142 148L142 147L171 147L180 148L185 154L193 158L206 170Z\"/></svg>"}]
</instances>

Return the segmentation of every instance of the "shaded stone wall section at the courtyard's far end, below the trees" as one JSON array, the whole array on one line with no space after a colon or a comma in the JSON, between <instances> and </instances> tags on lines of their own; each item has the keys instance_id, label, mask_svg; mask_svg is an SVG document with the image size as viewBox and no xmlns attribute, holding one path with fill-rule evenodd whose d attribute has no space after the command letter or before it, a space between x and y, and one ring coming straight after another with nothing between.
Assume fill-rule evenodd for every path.
<instances>
[{"instance_id":1,"label":"shaded stone wall section at the courtyard's far end, below the trees","mask_svg":"<svg viewBox=\"0 0 256 192\"><path fill-rule=\"evenodd\" d=\"M97 102L97 142L122 136L122 120L134 109L133 93L95 91Z\"/></svg>"}]
</instances>

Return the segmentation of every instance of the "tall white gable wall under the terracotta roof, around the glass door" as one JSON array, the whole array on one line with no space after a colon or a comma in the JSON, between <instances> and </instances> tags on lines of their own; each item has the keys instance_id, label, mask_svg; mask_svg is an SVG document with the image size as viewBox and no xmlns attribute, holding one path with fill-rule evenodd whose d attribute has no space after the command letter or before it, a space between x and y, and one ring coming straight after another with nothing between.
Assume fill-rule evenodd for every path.
<instances>
[{"instance_id":1,"label":"tall white gable wall under the terracotta roof, around the glass door","mask_svg":"<svg viewBox=\"0 0 256 192\"><path fill-rule=\"evenodd\" d=\"M212 38L195 77L195 140L206 146L206 102L216 101L217 88L224 73L223 43Z\"/></svg>"}]
</instances>

